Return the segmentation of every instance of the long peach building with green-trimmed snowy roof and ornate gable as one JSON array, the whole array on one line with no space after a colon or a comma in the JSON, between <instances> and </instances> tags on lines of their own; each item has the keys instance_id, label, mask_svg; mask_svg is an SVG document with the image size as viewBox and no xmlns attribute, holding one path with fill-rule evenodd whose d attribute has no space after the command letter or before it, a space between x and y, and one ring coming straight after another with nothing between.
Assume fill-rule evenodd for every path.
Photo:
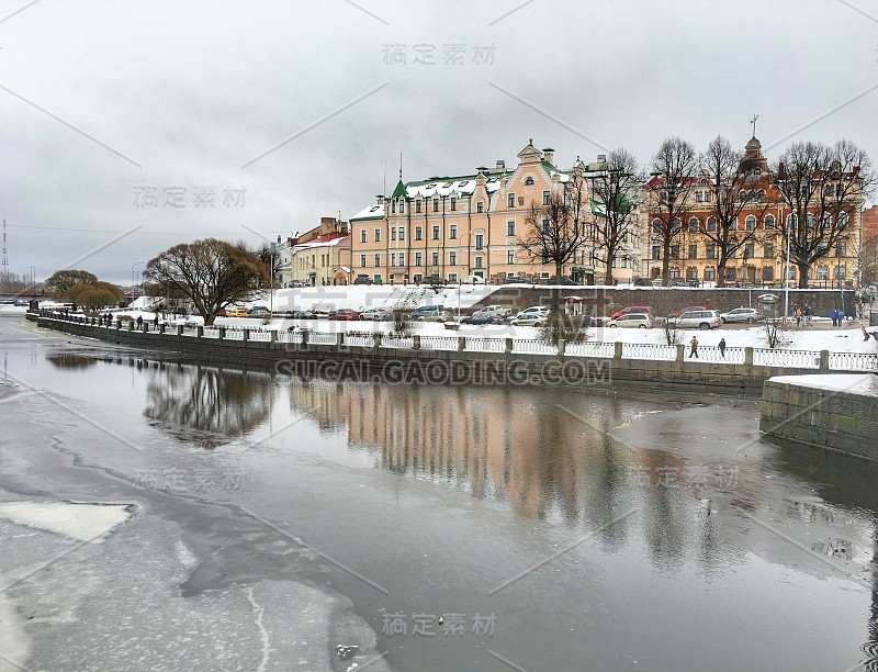
<instances>
[{"instance_id":1,"label":"long peach building with green-trimmed snowy roof and ornate gable","mask_svg":"<svg viewBox=\"0 0 878 672\"><path fill-rule=\"evenodd\" d=\"M531 141L513 169L497 161L494 168L480 167L468 176L414 182L401 176L390 197L376 197L375 204L350 219L352 275L384 283L420 282L429 276L450 282L466 276L496 283L514 276L548 281L554 264L533 258L519 244L528 212L531 204L542 205L552 194L564 193L571 179L587 184L589 170L578 160L571 170L553 161L552 148L539 150ZM589 198L587 189L581 198ZM620 280L639 272L639 240L632 233L618 255L614 275ZM562 272L593 283L596 261L600 256L595 240L586 242Z\"/></svg>"}]
</instances>

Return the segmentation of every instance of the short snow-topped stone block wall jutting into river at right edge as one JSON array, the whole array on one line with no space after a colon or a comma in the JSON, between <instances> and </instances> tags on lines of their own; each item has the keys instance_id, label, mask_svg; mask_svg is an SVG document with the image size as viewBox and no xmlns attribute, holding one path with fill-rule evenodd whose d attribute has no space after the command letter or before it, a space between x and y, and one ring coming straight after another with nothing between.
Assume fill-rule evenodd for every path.
<instances>
[{"instance_id":1,"label":"short snow-topped stone block wall jutting into river at right edge","mask_svg":"<svg viewBox=\"0 0 878 672\"><path fill-rule=\"evenodd\" d=\"M878 461L878 396L769 380L762 399L768 436Z\"/></svg>"}]
</instances>

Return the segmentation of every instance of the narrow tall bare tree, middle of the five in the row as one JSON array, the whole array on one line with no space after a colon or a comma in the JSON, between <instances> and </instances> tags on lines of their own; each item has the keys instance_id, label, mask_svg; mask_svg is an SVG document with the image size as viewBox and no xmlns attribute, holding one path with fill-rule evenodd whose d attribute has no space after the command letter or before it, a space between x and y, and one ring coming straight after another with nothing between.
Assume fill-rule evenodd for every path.
<instances>
[{"instance_id":1,"label":"narrow tall bare tree, middle of the five in the row","mask_svg":"<svg viewBox=\"0 0 878 672\"><path fill-rule=\"evenodd\" d=\"M650 229L662 242L662 284L665 287L669 282L671 248L683 229L683 215L689 209L697 163L693 144L676 136L665 139L652 159L655 176L646 183L646 190L652 192L651 206L656 219L650 223Z\"/></svg>"}]
</instances>

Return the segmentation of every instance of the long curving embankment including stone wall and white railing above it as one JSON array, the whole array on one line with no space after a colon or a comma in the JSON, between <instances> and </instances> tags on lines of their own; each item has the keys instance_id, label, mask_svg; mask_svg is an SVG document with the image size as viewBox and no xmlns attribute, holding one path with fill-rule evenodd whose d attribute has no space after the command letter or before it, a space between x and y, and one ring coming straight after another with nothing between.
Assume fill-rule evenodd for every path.
<instances>
[{"instance_id":1,"label":"long curving embankment including stone wall and white railing above it","mask_svg":"<svg viewBox=\"0 0 878 672\"><path fill-rule=\"evenodd\" d=\"M87 338L159 350L182 362L235 365L269 370L390 383L548 384L709 390L759 395L773 376L869 371L878 369L873 355L752 347L699 348L687 356L682 345L593 343L550 345L536 339L470 335L394 337L381 334L229 331L226 327L187 331L161 325L159 331L97 326L86 318L32 315L37 325Z\"/></svg>"}]
</instances>

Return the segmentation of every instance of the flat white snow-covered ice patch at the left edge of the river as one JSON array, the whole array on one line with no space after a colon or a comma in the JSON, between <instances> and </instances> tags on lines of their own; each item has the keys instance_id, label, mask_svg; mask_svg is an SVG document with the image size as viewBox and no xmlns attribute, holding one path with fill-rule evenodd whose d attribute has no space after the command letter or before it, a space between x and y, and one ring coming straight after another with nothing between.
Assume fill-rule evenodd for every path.
<instances>
[{"instance_id":1,"label":"flat white snow-covered ice patch at the left edge of the river","mask_svg":"<svg viewBox=\"0 0 878 672\"><path fill-rule=\"evenodd\" d=\"M0 518L54 531L71 539L92 541L125 523L131 504L85 504L72 502L3 502Z\"/></svg>"}]
</instances>

